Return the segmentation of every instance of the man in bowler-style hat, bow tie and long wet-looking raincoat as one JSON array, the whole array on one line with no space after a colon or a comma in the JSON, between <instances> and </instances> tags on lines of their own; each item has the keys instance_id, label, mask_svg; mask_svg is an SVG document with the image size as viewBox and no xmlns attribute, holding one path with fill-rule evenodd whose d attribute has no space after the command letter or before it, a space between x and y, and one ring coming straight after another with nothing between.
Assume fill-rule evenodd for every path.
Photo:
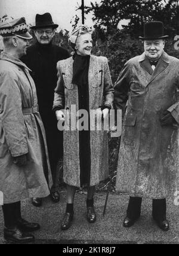
<instances>
[{"instance_id":1,"label":"man in bowler-style hat, bow tie and long wet-looking raincoat","mask_svg":"<svg viewBox=\"0 0 179 256\"><path fill-rule=\"evenodd\" d=\"M166 197L178 190L179 60L165 53L166 37L162 22L146 23L144 53L125 64L115 84L124 113L116 189L130 194L124 227L137 221L147 197L153 219L168 231Z\"/></svg>"}]
</instances>

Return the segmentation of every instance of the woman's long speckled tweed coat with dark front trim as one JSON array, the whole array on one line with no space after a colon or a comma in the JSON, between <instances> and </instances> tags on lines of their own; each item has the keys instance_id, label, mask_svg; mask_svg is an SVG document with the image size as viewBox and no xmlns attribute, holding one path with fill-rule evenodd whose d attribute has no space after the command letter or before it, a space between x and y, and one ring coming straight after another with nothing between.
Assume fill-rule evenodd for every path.
<instances>
[{"instance_id":1,"label":"woman's long speckled tweed coat with dark front trim","mask_svg":"<svg viewBox=\"0 0 179 256\"><path fill-rule=\"evenodd\" d=\"M64 109L76 106L79 108L78 87L72 84L73 57L57 63L58 82L55 89L54 108L62 106ZM64 84L64 96L59 94L61 83ZM110 77L108 61L105 57L91 56L88 74L89 109L98 109L101 105L113 104L113 86ZM79 131L69 129L64 131L64 182L80 187L80 158ZM90 186L99 184L109 175L108 138L107 132L91 131L91 179Z\"/></svg>"}]
</instances>

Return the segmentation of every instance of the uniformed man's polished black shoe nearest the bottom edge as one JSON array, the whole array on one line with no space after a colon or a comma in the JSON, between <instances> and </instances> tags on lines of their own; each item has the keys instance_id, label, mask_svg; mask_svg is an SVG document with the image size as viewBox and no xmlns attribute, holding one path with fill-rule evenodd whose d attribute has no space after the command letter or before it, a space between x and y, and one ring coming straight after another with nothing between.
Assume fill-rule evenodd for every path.
<instances>
[{"instance_id":1,"label":"uniformed man's polished black shoe nearest the bottom edge","mask_svg":"<svg viewBox=\"0 0 179 256\"><path fill-rule=\"evenodd\" d=\"M4 239L8 242L30 243L35 240L32 234L24 234L17 227L13 229L4 228Z\"/></svg>"}]
</instances>

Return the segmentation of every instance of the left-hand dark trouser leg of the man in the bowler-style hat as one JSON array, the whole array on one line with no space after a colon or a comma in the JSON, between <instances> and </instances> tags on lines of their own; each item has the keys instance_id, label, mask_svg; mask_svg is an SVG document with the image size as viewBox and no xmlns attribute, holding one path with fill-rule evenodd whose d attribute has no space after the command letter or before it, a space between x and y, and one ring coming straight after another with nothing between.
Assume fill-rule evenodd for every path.
<instances>
[{"instance_id":1,"label":"left-hand dark trouser leg of the man in the bowler-style hat","mask_svg":"<svg viewBox=\"0 0 179 256\"><path fill-rule=\"evenodd\" d=\"M130 197L129 205L127 209L127 217L131 220L135 220L140 217L141 214L141 197Z\"/></svg>"}]
</instances>

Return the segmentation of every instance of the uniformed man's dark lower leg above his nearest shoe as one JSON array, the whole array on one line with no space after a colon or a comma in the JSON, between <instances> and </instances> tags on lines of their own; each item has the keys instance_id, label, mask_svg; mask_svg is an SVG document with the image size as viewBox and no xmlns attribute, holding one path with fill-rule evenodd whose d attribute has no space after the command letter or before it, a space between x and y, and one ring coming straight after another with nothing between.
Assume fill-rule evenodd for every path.
<instances>
[{"instance_id":1,"label":"uniformed man's dark lower leg above his nearest shoe","mask_svg":"<svg viewBox=\"0 0 179 256\"><path fill-rule=\"evenodd\" d=\"M17 224L17 219L21 217L20 202L10 203L2 206L4 215L4 225L7 228L14 228Z\"/></svg>"}]
</instances>

